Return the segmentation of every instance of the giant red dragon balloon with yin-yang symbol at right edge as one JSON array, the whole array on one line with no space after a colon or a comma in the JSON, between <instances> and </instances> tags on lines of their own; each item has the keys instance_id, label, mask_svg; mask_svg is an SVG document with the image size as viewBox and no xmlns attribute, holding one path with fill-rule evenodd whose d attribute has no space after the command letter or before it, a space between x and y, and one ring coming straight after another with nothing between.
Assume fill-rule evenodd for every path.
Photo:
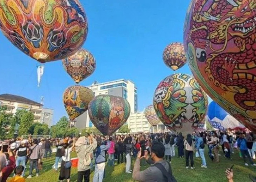
<instances>
[{"instance_id":1,"label":"giant red dragon balloon with yin-yang symbol at right edge","mask_svg":"<svg viewBox=\"0 0 256 182\"><path fill-rule=\"evenodd\" d=\"M192 0L184 47L206 93L256 132L256 16L254 0Z\"/></svg>"}]
</instances>

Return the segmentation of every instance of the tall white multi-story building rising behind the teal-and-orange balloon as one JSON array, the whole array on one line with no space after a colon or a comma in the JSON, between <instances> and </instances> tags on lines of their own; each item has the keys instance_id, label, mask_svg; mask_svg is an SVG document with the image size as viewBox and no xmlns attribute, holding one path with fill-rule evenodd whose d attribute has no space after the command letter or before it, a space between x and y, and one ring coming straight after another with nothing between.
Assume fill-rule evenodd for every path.
<instances>
[{"instance_id":1,"label":"tall white multi-story building rising behind the teal-and-orange balloon","mask_svg":"<svg viewBox=\"0 0 256 182\"><path fill-rule=\"evenodd\" d=\"M95 81L92 85L87 86L87 88L90 88L93 91L94 96L114 95L123 97L131 106L131 113L136 113L138 110L137 88L131 80L121 79L105 83L98 83ZM93 127L88 111L76 118L76 127L79 129Z\"/></svg>"}]
</instances>

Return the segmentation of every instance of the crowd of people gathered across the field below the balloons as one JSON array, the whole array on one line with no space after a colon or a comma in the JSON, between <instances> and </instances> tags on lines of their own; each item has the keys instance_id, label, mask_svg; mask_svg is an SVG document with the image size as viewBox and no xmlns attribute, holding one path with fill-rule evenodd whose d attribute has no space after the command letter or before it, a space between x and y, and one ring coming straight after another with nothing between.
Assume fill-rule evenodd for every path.
<instances>
[{"instance_id":1,"label":"crowd of people gathered across the field below the balloons","mask_svg":"<svg viewBox=\"0 0 256 182\"><path fill-rule=\"evenodd\" d=\"M71 152L76 152L78 157L78 182L89 182L91 169L94 168L93 182L102 182L105 175L106 162L109 166L115 163L126 163L125 172L132 173L137 181L173 181L172 158L177 155L185 157L185 168L194 169L194 156L202 160L202 168L207 168L205 147L208 147L208 157L213 162L220 162L219 155L231 159L234 148L240 150L245 166L256 166L255 159L256 135L241 130L225 132L205 131L182 133L157 133L157 134L128 134L102 136L87 134L86 136L65 137L63 139L12 139L0 143L0 182L25 181L26 164L29 163L29 175L32 178L33 169L35 177L43 168L44 158L50 158L52 147L55 148L55 163L53 170L59 173L59 180L70 181ZM178 154L175 153L177 146ZM49 154L49 155L48 155ZM136 158L133 170L132 158ZM144 171L141 166L150 164ZM95 167L94 167L95 166ZM14 172L14 174L12 174ZM233 171L227 170L227 179ZM8 178L9 177L9 178ZM230 181L230 179L229 179Z\"/></svg>"}]
</instances>

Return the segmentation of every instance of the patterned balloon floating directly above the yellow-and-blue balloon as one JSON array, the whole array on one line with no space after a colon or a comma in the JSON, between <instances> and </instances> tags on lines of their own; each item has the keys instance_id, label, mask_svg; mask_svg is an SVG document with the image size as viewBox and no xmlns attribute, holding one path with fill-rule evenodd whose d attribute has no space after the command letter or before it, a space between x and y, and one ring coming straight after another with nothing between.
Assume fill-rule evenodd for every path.
<instances>
[{"instance_id":1,"label":"patterned balloon floating directly above the yellow-and-blue balloon","mask_svg":"<svg viewBox=\"0 0 256 182\"><path fill-rule=\"evenodd\" d=\"M96 68L93 55L84 49L80 49L74 55L63 59L62 63L64 69L76 83L93 74Z\"/></svg>"}]
</instances>

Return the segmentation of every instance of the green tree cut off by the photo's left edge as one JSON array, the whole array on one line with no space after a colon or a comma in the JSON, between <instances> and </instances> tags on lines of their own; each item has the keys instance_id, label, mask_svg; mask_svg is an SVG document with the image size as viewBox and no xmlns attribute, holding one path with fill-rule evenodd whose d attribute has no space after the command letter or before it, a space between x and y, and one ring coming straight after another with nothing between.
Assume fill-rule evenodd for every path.
<instances>
[{"instance_id":1,"label":"green tree cut off by the photo's left edge","mask_svg":"<svg viewBox=\"0 0 256 182\"><path fill-rule=\"evenodd\" d=\"M10 129L10 123L12 114L6 113L7 107L0 107L0 139L5 139L7 137L8 130Z\"/></svg>"}]
</instances>

